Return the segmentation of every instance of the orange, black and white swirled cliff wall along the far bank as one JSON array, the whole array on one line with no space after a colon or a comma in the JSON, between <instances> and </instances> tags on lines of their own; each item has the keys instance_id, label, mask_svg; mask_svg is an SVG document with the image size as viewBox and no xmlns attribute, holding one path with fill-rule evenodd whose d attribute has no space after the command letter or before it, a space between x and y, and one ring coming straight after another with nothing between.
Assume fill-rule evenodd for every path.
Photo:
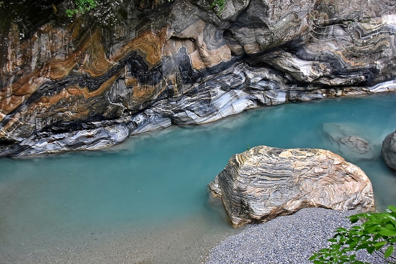
<instances>
[{"instance_id":1,"label":"orange, black and white swirled cliff wall along the far bank","mask_svg":"<svg viewBox=\"0 0 396 264\"><path fill-rule=\"evenodd\" d=\"M0 5L0 156L396 89L393 0L28 2Z\"/></svg>"}]
</instances>

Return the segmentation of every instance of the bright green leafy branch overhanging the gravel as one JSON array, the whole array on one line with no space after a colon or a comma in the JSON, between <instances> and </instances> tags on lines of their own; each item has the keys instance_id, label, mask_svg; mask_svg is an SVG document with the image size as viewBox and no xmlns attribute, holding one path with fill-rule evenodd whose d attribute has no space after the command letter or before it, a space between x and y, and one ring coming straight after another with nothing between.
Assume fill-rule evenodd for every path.
<instances>
[{"instance_id":1,"label":"bright green leafy branch overhanging the gravel","mask_svg":"<svg viewBox=\"0 0 396 264\"><path fill-rule=\"evenodd\" d=\"M392 256L396 244L396 207L389 206L385 213L365 213L349 217L351 223L361 220L363 223L351 229L337 228L336 234L323 248L309 258L314 264L367 264L356 260L351 251L361 249L377 254L388 263L396 263Z\"/></svg>"}]
</instances>

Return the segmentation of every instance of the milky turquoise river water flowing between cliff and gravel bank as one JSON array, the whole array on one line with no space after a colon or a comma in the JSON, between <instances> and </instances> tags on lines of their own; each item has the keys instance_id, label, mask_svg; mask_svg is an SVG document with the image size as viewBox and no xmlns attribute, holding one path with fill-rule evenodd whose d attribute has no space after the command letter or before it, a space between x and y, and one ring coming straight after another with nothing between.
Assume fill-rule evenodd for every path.
<instances>
[{"instance_id":1,"label":"milky turquoise river water flowing between cliff and gravel bank","mask_svg":"<svg viewBox=\"0 0 396 264\"><path fill-rule=\"evenodd\" d=\"M200 263L233 230L207 185L257 145L323 148L358 165L377 208L396 203L380 157L396 130L396 93L249 110L130 137L103 151L0 159L0 263ZM371 150L337 143L355 135Z\"/></svg>"}]
</instances>

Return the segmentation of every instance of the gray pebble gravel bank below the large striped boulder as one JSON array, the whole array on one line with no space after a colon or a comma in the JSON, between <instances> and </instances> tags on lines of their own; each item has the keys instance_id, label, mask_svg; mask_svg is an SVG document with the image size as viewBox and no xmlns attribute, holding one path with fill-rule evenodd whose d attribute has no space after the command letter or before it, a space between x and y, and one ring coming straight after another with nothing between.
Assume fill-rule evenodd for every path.
<instances>
[{"instance_id":1,"label":"gray pebble gravel bank below the large striped boulder","mask_svg":"<svg viewBox=\"0 0 396 264\"><path fill-rule=\"evenodd\" d=\"M228 237L210 251L207 264L312 264L313 252L326 247L337 227L349 228L345 217L356 211L305 208L262 224L250 224L241 233ZM359 260L385 263L365 251Z\"/></svg>"}]
</instances>

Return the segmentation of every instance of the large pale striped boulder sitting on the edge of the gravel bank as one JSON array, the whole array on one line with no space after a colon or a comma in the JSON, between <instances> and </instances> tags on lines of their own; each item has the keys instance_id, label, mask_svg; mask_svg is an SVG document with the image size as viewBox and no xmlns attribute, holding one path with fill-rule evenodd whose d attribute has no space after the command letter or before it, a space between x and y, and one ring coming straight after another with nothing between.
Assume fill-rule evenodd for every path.
<instances>
[{"instance_id":1,"label":"large pale striped boulder sitting on the edge of the gravel bank","mask_svg":"<svg viewBox=\"0 0 396 264\"><path fill-rule=\"evenodd\" d=\"M320 149L258 146L235 154L210 183L233 224L271 220L305 207L374 209L373 187L357 166Z\"/></svg>"}]
</instances>

